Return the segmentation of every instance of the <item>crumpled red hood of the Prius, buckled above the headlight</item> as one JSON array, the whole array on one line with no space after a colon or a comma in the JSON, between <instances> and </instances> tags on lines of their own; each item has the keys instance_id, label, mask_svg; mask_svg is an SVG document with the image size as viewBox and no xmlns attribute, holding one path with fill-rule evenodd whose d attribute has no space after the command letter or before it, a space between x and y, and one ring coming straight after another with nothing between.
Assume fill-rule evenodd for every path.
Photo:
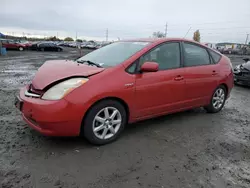
<instances>
[{"instance_id":1,"label":"crumpled red hood of the Prius, buckled above the headlight","mask_svg":"<svg viewBox=\"0 0 250 188\"><path fill-rule=\"evenodd\" d=\"M79 64L69 60L46 61L35 74L32 85L35 89L43 90L53 82L75 76L91 76L100 73L104 68Z\"/></svg>"}]
</instances>

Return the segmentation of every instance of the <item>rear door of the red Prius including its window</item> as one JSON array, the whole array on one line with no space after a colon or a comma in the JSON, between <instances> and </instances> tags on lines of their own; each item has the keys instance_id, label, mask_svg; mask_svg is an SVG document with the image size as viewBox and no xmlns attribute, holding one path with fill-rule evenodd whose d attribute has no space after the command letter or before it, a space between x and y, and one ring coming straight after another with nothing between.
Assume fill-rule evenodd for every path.
<instances>
[{"instance_id":1,"label":"rear door of the red Prius including its window","mask_svg":"<svg viewBox=\"0 0 250 188\"><path fill-rule=\"evenodd\" d=\"M207 49L183 42L187 106L205 105L218 85L219 69Z\"/></svg>"}]
</instances>

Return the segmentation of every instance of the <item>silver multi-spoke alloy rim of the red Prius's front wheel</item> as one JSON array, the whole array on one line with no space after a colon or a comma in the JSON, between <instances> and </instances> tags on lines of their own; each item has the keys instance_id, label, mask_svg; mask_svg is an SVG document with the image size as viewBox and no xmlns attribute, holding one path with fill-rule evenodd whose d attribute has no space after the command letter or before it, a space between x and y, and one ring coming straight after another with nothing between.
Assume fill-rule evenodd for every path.
<instances>
[{"instance_id":1,"label":"silver multi-spoke alloy rim of the red Prius's front wheel","mask_svg":"<svg viewBox=\"0 0 250 188\"><path fill-rule=\"evenodd\" d=\"M122 123L122 116L115 107L105 107L95 116L92 129L99 139L110 139L119 131Z\"/></svg>"}]
</instances>

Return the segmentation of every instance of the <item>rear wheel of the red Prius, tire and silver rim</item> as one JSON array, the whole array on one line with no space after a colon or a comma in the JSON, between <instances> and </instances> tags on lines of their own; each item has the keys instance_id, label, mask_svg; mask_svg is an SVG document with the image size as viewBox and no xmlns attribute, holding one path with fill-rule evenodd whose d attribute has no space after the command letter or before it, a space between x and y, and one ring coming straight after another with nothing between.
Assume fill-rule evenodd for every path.
<instances>
[{"instance_id":1,"label":"rear wheel of the red Prius, tire and silver rim","mask_svg":"<svg viewBox=\"0 0 250 188\"><path fill-rule=\"evenodd\" d=\"M221 94L220 94L221 92ZM216 99L215 99L216 98ZM224 107L227 98L227 90L223 85L220 85L214 90L214 93L211 97L210 104L205 106L205 110L208 113L217 113L221 111ZM217 101L217 103L216 103Z\"/></svg>"}]
</instances>

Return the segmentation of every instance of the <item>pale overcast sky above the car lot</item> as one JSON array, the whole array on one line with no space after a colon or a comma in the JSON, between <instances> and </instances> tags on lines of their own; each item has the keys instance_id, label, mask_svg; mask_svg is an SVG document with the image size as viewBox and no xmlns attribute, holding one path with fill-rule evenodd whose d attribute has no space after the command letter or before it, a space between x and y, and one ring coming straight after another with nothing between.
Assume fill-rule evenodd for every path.
<instances>
[{"instance_id":1,"label":"pale overcast sky above the car lot","mask_svg":"<svg viewBox=\"0 0 250 188\"><path fill-rule=\"evenodd\" d=\"M245 43L250 0L0 0L0 32L74 39L148 38L154 31L202 42ZM250 42L250 36L249 40Z\"/></svg>"}]
</instances>

